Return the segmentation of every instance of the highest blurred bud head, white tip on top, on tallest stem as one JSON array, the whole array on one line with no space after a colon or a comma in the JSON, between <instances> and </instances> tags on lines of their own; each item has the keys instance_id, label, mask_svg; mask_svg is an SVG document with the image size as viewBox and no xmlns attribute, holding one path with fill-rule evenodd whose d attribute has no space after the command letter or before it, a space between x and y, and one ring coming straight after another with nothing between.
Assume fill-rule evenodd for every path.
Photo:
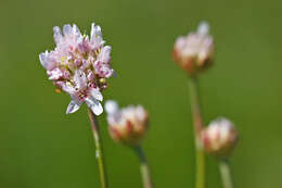
<instances>
[{"instance_id":1,"label":"highest blurred bud head, white tip on top, on tallest stem","mask_svg":"<svg viewBox=\"0 0 282 188\"><path fill-rule=\"evenodd\" d=\"M195 74L213 63L215 47L208 30L208 24L202 22L197 32L189 33L188 36L178 37L176 40L174 60L189 74Z\"/></svg>"}]
</instances>

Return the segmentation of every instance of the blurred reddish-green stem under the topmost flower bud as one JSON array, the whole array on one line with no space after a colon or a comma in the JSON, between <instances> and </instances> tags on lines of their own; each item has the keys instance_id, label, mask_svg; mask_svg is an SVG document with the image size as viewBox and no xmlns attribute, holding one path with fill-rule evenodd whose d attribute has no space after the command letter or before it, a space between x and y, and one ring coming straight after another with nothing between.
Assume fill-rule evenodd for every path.
<instances>
[{"instance_id":1,"label":"blurred reddish-green stem under the topmost flower bud","mask_svg":"<svg viewBox=\"0 0 282 188\"><path fill-rule=\"evenodd\" d=\"M194 138L196 152L196 188L205 187L205 153L201 143L201 131L203 128L203 117L201 114L200 92L197 78L191 76L189 78L191 110L194 122Z\"/></svg>"}]
</instances>

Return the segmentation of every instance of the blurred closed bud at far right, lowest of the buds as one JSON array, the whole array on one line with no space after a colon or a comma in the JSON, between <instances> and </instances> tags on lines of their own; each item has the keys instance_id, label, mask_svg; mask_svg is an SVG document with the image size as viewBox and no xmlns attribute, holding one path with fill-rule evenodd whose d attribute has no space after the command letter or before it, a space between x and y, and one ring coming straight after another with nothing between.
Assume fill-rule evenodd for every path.
<instances>
[{"instance_id":1,"label":"blurred closed bud at far right, lowest of the buds","mask_svg":"<svg viewBox=\"0 0 282 188\"><path fill-rule=\"evenodd\" d=\"M238 142L238 131L232 122L217 118L202 131L204 149L218 158L227 158Z\"/></svg>"}]
</instances>

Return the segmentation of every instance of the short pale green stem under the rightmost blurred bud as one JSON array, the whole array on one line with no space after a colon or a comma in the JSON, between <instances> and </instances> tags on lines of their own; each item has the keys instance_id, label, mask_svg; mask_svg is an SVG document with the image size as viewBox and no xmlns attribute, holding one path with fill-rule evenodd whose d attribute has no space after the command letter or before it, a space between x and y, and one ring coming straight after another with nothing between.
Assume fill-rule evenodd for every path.
<instances>
[{"instance_id":1,"label":"short pale green stem under the rightmost blurred bud","mask_svg":"<svg viewBox=\"0 0 282 188\"><path fill-rule=\"evenodd\" d=\"M223 187L233 188L233 183L232 183L232 177L231 177L230 166L228 161L221 160L219 162L219 170L220 170Z\"/></svg>"}]
</instances>

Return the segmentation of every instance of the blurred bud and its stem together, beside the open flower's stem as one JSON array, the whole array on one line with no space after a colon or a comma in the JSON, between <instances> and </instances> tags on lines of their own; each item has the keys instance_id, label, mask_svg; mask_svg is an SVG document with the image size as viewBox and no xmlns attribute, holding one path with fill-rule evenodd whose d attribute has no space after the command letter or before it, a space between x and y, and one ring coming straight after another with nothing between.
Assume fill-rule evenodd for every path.
<instances>
[{"instance_id":1,"label":"blurred bud and its stem together, beside the open flower's stem","mask_svg":"<svg viewBox=\"0 0 282 188\"><path fill-rule=\"evenodd\" d=\"M106 101L108 131L113 140L128 146L140 161L141 176L144 188L153 188L153 179L141 146L149 126L149 114L141 105L129 105L119 109L117 102Z\"/></svg>"}]
</instances>

